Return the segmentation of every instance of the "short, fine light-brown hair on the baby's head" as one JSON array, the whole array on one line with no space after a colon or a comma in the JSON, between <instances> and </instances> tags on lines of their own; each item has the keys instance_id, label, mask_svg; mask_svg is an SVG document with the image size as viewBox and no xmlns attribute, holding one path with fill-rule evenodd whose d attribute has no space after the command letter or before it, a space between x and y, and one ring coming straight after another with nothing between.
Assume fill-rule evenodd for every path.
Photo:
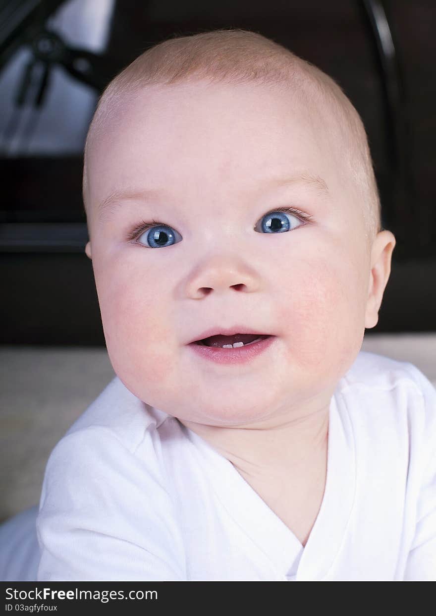
<instances>
[{"instance_id":1,"label":"short, fine light-brown hair on the baby's head","mask_svg":"<svg viewBox=\"0 0 436 616\"><path fill-rule=\"evenodd\" d=\"M230 28L192 36L166 39L139 55L115 76L102 92L89 126L84 149L83 200L86 211L87 156L92 140L108 118L115 103L148 85L171 86L198 79L211 83L256 83L292 86L315 113L321 102L333 110L336 129L345 146L348 175L363 200L366 235L373 240L381 230L381 205L369 152L365 127L341 87L310 62L262 34Z\"/></svg>"}]
</instances>

